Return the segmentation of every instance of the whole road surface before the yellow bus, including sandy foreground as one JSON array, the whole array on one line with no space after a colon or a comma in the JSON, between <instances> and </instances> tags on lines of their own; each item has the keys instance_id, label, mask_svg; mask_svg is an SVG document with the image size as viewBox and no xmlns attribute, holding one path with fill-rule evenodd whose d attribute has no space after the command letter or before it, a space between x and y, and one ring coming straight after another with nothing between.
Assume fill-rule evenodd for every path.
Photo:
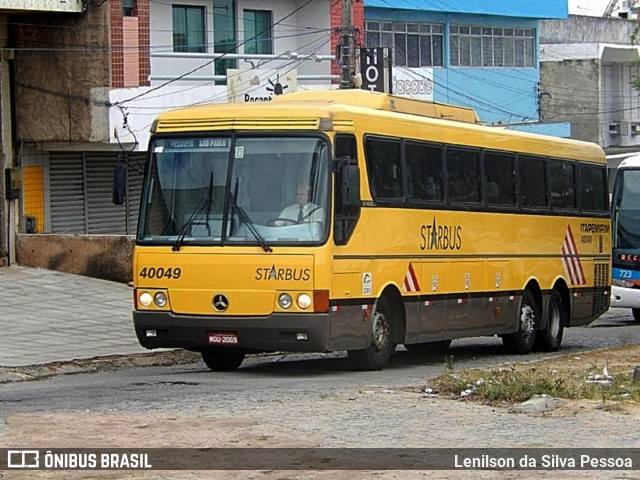
<instances>
[{"instance_id":1,"label":"whole road surface before the yellow bus, including sandy foreground","mask_svg":"<svg viewBox=\"0 0 640 480\"><path fill-rule=\"evenodd\" d=\"M455 368L470 368L567 353L579 358L640 342L640 324L622 310L565 333L565 347L552 355L506 355L501 341L489 337L455 341L448 354ZM523 414L425 394L421 387L444 369L442 358L399 348L379 372L355 372L345 355L272 355L249 358L235 372L214 373L195 362L8 382L0 384L0 448L640 448L640 417L615 409L569 404ZM105 478L104 472L50 473L16 478ZM112 473L108 478L125 478ZM127 472L126 478L637 478L637 470L283 473L274 466L241 476L213 473Z\"/></svg>"}]
</instances>

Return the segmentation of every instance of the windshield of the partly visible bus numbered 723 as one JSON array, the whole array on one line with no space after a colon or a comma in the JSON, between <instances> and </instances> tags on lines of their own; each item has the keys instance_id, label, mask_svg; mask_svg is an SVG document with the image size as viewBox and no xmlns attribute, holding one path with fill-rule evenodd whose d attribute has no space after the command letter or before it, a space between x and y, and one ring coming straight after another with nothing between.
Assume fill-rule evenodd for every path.
<instances>
[{"instance_id":1,"label":"windshield of the partly visible bus numbered 723","mask_svg":"<svg viewBox=\"0 0 640 480\"><path fill-rule=\"evenodd\" d=\"M612 200L613 248L640 248L640 170L618 171Z\"/></svg>"}]
</instances>

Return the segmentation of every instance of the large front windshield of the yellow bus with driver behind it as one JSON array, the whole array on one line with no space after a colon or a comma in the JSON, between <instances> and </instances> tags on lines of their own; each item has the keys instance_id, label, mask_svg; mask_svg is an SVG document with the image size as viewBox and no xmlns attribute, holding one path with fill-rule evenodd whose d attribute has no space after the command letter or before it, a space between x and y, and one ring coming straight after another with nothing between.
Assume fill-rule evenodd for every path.
<instances>
[{"instance_id":1,"label":"large front windshield of the yellow bus with driver behind it","mask_svg":"<svg viewBox=\"0 0 640 480\"><path fill-rule=\"evenodd\" d=\"M156 138L138 241L182 245L323 242L329 144L320 136Z\"/></svg>"}]
</instances>

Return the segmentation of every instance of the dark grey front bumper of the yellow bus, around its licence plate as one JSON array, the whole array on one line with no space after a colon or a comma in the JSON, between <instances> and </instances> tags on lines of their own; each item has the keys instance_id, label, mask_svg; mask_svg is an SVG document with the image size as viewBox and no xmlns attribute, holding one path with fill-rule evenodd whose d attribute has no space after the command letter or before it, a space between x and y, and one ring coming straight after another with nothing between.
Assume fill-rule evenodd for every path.
<instances>
[{"instance_id":1,"label":"dark grey front bumper of the yellow bus, around its licence plate","mask_svg":"<svg viewBox=\"0 0 640 480\"><path fill-rule=\"evenodd\" d=\"M326 352L330 318L328 313L208 317L136 310L133 325L140 345L149 349ZM230 338L237 338L237 343L212 344L209 340L212 333L230 335Z\"/></svg>"}]
</instances>

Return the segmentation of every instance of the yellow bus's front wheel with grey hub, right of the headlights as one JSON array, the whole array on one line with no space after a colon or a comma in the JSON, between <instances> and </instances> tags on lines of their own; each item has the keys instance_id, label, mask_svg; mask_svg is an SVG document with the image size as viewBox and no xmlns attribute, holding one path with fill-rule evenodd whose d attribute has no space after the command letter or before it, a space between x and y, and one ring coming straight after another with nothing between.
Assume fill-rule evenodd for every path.
<instances>
[{"instance_id":1,"label":"yellow bus's front wheel with grey hub, right of the headlights","mask_svg":"<svg viewBox=\"0 0 640 480\"><path fill-rule=\"evenodd\" d=\"M389 363L396 346L393 343L393 319L388 302L381 298L371 317L371 345L363 350L349 350L349 360L356 370L382 370Z\"/></svg>"}]
</instances>

